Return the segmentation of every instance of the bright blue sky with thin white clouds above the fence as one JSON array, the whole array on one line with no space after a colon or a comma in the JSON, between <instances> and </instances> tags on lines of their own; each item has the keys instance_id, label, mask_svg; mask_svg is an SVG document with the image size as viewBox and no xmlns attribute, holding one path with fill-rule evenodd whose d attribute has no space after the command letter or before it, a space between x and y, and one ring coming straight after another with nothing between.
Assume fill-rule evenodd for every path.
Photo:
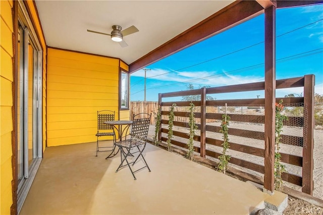
<instances>
[{"instance_id":1,"label":"bright blue sky with thin white clouds above the fence","mask_svg":"<svg viewBox=\"0 0 323 215\"><path fill-rule=\"evenodd\" d=\"M323 94L323 5L277 10L276 79L315 75L315 92ZM146 100L158 93L199 86L264 81L264 15L217 34L147 66ZM130 77L130 98L144 99L144 71ZM303 88L277 90L277 97ZM219 99L264 97L264 91L216 94Z\"/></svg>"}]
</instances>

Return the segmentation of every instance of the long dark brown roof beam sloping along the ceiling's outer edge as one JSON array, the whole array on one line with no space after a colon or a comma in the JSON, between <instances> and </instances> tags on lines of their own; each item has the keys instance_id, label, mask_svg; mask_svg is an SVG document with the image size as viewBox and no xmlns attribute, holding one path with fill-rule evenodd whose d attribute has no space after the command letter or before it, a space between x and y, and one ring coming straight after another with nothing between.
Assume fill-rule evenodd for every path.
<instances>
[{"instance_id":1,"label":"long dark brown roof beam sloping along the ceiling's outer edge","mask_svg":"<svg viewBox=\"0 0 323 215\"><path fill-rule=\"evenodd\" d=\"M262 13L255 1L236 1L129 65L130 73Z\"/></svg>"}]
</instances>

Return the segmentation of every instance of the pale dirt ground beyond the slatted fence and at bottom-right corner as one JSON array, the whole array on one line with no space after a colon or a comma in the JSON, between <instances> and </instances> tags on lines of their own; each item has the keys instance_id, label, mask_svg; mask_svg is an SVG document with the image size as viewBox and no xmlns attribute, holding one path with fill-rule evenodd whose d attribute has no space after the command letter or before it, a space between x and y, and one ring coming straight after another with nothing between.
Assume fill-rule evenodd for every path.
<instances>
[{"instance_id":1,"label":"pale dirt ground beyond the slatted fence and at bottom-right corner","mask_svg":"<svg viewBox=\"0 0 323 215\"><path fill-rule=\"evenodd\" d=\"M220 123L211 123L212 125L220 126ZM164 127L164 126L163 126ZM251 125L251 124L235 124L232 123L230 124L231 128L242 128L246 130L251 130L251 131L263 131L263 125ZM167 126L165 126L167 128ZM149 134L148 138L152 138L154 135L154 129L155 126L151 125L149 128ZM181 132L187 132L187 128L181 128L181 127L175 127L174 130L181 131ZM300 130L299 128L287 128L284 130L283 134L286 135L295 135L295 136L302 136L302 129ZM163 134L163 136L167 136L167 134ZM214 132L207 132L206 134L207 137L211 138L216 138L216 139L221 139L222 135L219 133L214 133ZM175 140L181 141L181 142L187 142L187 139L179 138L179 137L174 137ZM243 137L237 137L237 136L231 136L229 135L229 139L232 142L236 142L239 144L244 144L244 145L249 145L253 147L258 147L258 148L264 148L264 142L261 140L255 140L255 139L250 139L250 138L243 138ZM199 146L199 142L195 143L197 146ZM221 152L220 147L217 146L212 146L212 145L207 145L207 149L211 149L217 152ZM294 154L298 156L302 156L302 147L300 146L294 146L294 145L284 145L282 144L281 151L289 154ZM239 157L244 160L247 160L252 163L263 163L264 159L261 157L253 156L250 154L242 153L242 152L237 152L237 151L229 151L229 153L234 156L234 157ZM209 159L217 160L215 158L208 157ZM314 171L313 171L313 178L314 178L314 190L313 190L313 196L318 197L320 199L323 199L323 130L319 129L314 129L314 154L313 154L313 159L314 159ZM237 169L240 169L244 172L248 172L251 174L254 174L258 177L263 177L262 174L259 174L254 171L250 171L238 166L234 166ZM286 165L286 169L289 173L293 173L296 175L302 175L302 168L301 167L296 167L294 165ZM301 191L301 187L290 184L290 183L285 183L286 186L291 187L293 189ZM306 201L296 199L293 197L289 196L288 199L289 206L285 209L283 214L323 214L323 208L312 205Z\"/></svg>"}]
</instances>

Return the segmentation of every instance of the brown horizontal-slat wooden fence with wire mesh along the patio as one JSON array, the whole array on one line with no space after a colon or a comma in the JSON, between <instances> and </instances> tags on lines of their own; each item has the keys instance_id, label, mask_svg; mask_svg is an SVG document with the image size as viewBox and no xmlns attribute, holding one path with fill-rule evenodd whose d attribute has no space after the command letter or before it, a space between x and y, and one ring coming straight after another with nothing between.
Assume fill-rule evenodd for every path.
<instances>
[{"instance_id":1,"label":"brown horizontal-slat wooden fence with wire mesh along the patio","mask_svg":"<svg viewBox=\"0 0 323 215\"><path fill-rule=\"evenodd\" d=\"M298 166L302 168L302 174L296 175L292 173L284 173L282 178L284 181L289 183L298 185L302 187L302 191L308 194L312 194L313 190L313 84L314 84L314 76L307 75L299 78L291 78L291 79L283 79L276 81L276 88L290 88L290 87L304 87L304 97L284 97L284 98L276 98L276 101L283 100L283 104L285 106L293 106L298 104L303 107L304 113L303 117L289 117L289 121L284 123L285 126L292 127L301 127L303 129L302 136L299 135L282 135L282 143L284 145L297 145L302 149L301 155L294 155L289 153L282 153L282 162L294 166ZM214 138L212 133L220 133L219 125L212 125L212 123L207 124L207 120L217 121L222 119L222 115L214 111L214 113L209 113L207 109L209 107L219 107L224 106L227 103L228 106L253 106L253 107L264 107L265 99L263 98L255 98L255 99L232 99L232 100L205 100L206 94L214 94L214 93L228 93L228 92L244 92L244 91L253 91L253 90L264 90L264 82L250 83L250 84L240 84L240 85L232 85L232 86L224 86L224 87L212 87L212 88L202 88L195 90L187 90L187 91L179 91L179 92L170 92L170 93L159 93L158 96L158 104L161 106L161 114L162 114L162 126L159 130L158 139L166 142L168 133L167 126L168 119L167 115L169 114L169 107L176 103L177 108L182 107L186 108L189 106L190 101L172 101L165 102L162 101L163 98L166 97L177 97L177 96L187 96L187 95L197 95L200 94L202 100L201 101L192 101L196 107L198 107L198 112L195 113L195 118L198 119L198 129L200 130L199 135L195 135L194 140L199 142L199 146L195 146L194 150L202 157L211 157L218 158L220 153L209 149L206 149L206 146L221 146L223 140L221 137L219 139ZM155 105L155 104L153 104ZM183 110L184 110L183 109ZM275 112L274 112L275 114ZM175 116L178 117L174 121L174 125L182 128L188 128L188 123L185 120L187 118L187 111L179 111L178 109L175 112ZM264 125L265 116L255 116L255 115L241 115L234 114L230 115L231 121L235 121L238 123L256 123ZM297 122L293 125L290 122ZM164 125L164 126L163 126ZM243 125L243 124L242 124ZM254 131L248 130L246 128L229 128L229 135L243 138L251 138L260 141L264 141L264 132L263 131ZM162 135L164 134L164 135ZM177 145L183 148L186 148L186 142L181 142L181 139L188 139L188 135L182 131L174 131L174 136L178 137L176 140L172 139L172 144ZM174 138L175 139L175 138ZM266 163L266 159L268 159L265 154L265 146L264 142L262 148L254 147L250 145L240 144L239 142L230 142L230 149L233 151L247 153L252 156L258 156L264 158ZM273 162L273 161L272 161ZM240 156L231 156L229 163L238 165L243 168L247 168L249 170L264 174L264 178L266 173L264 171L264 164L261 163L252 163L250 161L242 159ZM270 176L272 177L272 176Z\"/></svg>"}]
</instances>

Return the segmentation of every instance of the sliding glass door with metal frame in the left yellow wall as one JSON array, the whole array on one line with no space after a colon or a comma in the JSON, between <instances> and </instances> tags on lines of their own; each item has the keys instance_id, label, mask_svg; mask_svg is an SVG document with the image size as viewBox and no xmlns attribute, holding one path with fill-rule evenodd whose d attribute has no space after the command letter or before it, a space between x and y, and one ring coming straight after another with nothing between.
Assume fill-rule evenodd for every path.
<instances>
[{"instance_id":1,"label":"sliding glass door with metal frame in the left yellow wall","mask_svg":"<svg viewBox=\"0 0 323 215\"><path fill-rule=\"evenodd\" d=\"M26 20L19 19L18 23L16 119L19 208L42 157L42 51L39 42L26 25Z\"/></svg>"}]
</instances>

